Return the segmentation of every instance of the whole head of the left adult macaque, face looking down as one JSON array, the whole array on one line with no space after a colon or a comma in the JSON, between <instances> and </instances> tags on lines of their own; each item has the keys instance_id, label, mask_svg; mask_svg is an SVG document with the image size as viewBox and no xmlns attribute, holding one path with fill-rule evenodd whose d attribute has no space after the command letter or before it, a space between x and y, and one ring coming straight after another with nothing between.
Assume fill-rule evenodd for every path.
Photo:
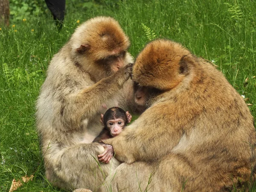
<instances>
[{"instance_id":1,"label":"whole head of the left adult macaque, face looking down","mask_svg":"<svg viewBox=\"0 0 256 192\"><path fill-rule=\"evenodd\" d=\"M75 61L96 78L104 78L132 62L130 42L111 17L95 17L79 26L70 39ZM129 61L128 61L129 60Z\"/></svg>"}]
</instances>

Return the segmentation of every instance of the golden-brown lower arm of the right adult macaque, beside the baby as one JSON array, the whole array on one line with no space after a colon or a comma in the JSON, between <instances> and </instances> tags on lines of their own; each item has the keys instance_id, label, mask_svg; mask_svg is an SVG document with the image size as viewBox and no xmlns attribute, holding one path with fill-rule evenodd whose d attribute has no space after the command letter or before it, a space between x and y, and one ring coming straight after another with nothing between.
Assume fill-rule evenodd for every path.
<instances>
[{"instance_id":1,"label":"golden-brown lower arm of the right adult macaque, beside the baby","mask_svg":"<svg viewBox=\"0 0 256 192\"><path fill-rule=\"evenodd\" d=\"M152 117L150 114L154 110L159 111L160 108L146 110L119 136L104 141L113 146L117 160L125 163L158 160L179 143L183 135L182 128L168 119L163 121Z\"/></svg>"}]
</instances>

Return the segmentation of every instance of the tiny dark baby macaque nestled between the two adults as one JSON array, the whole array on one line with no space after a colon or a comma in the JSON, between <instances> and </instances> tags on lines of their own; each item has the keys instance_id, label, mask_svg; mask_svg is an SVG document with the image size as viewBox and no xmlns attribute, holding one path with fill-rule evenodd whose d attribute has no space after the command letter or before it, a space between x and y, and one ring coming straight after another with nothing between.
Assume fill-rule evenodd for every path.
<instances>
[{"instance_id":1,"label":"tiny dark baby macaque nestled between the two adults","mask_svg":"<svg viewBox=\"0 0 256 192\"><path fill-rule=\"evenodd\" d=\"M129 111L124 111L121 108L109 108L105 115L101 114L101 121L104 125L102 132L93 142L103 143L104 140L116 137L119 135L125 126L131 122L131 114Z\"/></svg>"}]
</instances>

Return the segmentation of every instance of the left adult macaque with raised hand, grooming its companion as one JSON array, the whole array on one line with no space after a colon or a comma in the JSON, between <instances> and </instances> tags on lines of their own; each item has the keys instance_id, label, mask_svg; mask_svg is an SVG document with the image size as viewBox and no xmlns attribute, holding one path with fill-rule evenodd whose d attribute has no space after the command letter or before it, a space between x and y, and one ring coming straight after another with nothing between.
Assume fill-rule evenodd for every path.
<instances>
[{"instance_id":1,"label":"left adult macaque with raised hand, grooming its companion","mask_svg":"<svg viewBox=\"0 0 256 192\"><path fill-rule=\"evenodd\" d=\"M113 147L92 142L102 131L105 108L130 111L133 106L129 45L116 20L96 17L81 24L52 58L36 120L46 177L53 186L97 191L119 165L104 156L99 169L97 155Z\"/></svg>"}]
</instances>

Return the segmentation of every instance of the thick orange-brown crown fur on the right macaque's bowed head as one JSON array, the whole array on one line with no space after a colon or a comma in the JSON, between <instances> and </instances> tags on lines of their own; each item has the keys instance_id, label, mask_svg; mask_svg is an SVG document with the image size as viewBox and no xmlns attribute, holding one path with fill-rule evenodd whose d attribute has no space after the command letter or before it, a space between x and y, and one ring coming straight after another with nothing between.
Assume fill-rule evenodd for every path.
<instances>
[{"instance_id":1,"label":"thick orange-brown crown fur on the right macaque's bowed head","mask_svg":"<svg viewBox=\"0 0 256 192\"><path fill-rule=\"evenodd\" d=\"M168 90L185 76L180 62L192 54L180 44L159 39L140 52L133 67L133 80L140 86Z\"/></svg>"}]
</instances>

